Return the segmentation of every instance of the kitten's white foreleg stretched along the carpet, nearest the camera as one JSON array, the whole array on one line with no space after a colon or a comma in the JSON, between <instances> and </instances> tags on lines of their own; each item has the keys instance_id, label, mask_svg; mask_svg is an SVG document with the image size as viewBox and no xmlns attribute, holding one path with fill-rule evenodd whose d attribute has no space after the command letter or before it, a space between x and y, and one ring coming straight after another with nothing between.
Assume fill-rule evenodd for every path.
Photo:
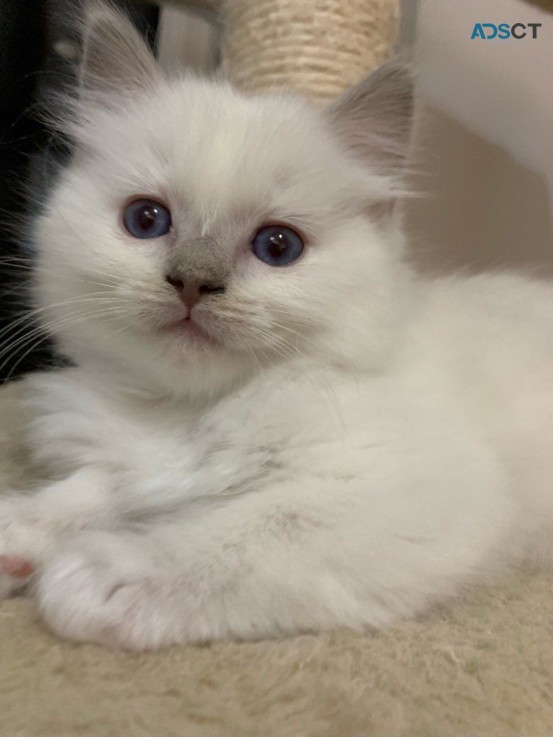
<instances>
[{"instance_id":1,"label":"kitten's white foreleg stretched along the carpet, nearest the camera","mask_svg":"<svg viewBox=\"0 0 553 737\"><path fill-rule=\"evenodd\" d=\"M141 531L84 532L46 564L38 605L62 637L131 649L384 626L493 569L511 509L493 475L470 488L463 475L450 496L430 477L372 494L311 480Z\"/></svg>"}]
</instances>

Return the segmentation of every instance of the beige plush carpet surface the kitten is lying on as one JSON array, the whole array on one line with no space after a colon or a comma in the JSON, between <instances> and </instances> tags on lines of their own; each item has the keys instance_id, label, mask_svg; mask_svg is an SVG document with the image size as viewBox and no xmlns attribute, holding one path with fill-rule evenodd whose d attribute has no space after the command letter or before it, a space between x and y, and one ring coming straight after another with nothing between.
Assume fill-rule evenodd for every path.
<instances>
[{"instance_id":1,"label":"beige plush carpet surface the kitten is lying on","mask_svg":"<svg viewBox=\"0 0 553 737\"><path fill-rule=\"evenodd\" d=\"M0 393L0 485L20 478ZM385 633L129 655L0 605L0 737L552 737L553 576L523 575Z\"/></svg>"}]
</instances>

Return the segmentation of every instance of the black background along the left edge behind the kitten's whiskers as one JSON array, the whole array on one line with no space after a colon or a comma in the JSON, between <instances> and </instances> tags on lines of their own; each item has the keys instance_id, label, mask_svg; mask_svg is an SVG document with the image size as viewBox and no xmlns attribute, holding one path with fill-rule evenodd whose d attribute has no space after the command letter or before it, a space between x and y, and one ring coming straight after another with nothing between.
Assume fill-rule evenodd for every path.
<instances>
[{"instance_id":1,"label":"black background along the left edge behind the kitten's whiskers","mask_svg":"<svg viewBox=\"0 0 553 737\"><path fill-rule=\"evenodd\" d=\"M154 47L157 7L120 4ZM71 153L46 131L37 106L49 89L74 81L54 46L71 38L79 12L79 0L0 0L0 383L58 361L46 336L20 320L32 268L24 222Z\"/></svg>"}]
</instances>

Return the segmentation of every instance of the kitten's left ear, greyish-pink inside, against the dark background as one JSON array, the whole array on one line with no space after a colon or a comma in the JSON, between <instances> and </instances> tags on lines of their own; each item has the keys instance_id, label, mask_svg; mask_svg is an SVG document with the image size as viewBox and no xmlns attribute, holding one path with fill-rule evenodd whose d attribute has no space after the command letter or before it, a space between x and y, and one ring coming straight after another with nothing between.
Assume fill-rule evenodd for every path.
<instances>
[{"instance_id":1,"label":"kitten's left ear, greyish-pink inside, against the dark background","mask_svg":"<svg viewBox=\"0 0 553 737\"><path fill-rule=\"evenodd\" d=\"M109 97L143 88L160 76L148 45L114 6L93 1L85 10L81 97Z\"/></svg>"}]
</instances>

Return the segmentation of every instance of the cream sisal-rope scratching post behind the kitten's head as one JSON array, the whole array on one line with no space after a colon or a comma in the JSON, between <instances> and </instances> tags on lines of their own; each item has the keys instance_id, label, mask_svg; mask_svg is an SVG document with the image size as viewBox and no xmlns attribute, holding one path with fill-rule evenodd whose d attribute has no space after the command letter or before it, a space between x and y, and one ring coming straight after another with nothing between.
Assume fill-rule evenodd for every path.
<instances>
[{"instance_id":1,"label":"cream sisal-rope scratching post behind the kitten's head","mask_svg":"<svg viewBox=\"0 0 553 737\"><path fill-rule=\"evenodd\" d=\"M287 87L321 102L392 53L399 0L226 0L222 61L247 91Z\"/></svg>"}]
</instances>

